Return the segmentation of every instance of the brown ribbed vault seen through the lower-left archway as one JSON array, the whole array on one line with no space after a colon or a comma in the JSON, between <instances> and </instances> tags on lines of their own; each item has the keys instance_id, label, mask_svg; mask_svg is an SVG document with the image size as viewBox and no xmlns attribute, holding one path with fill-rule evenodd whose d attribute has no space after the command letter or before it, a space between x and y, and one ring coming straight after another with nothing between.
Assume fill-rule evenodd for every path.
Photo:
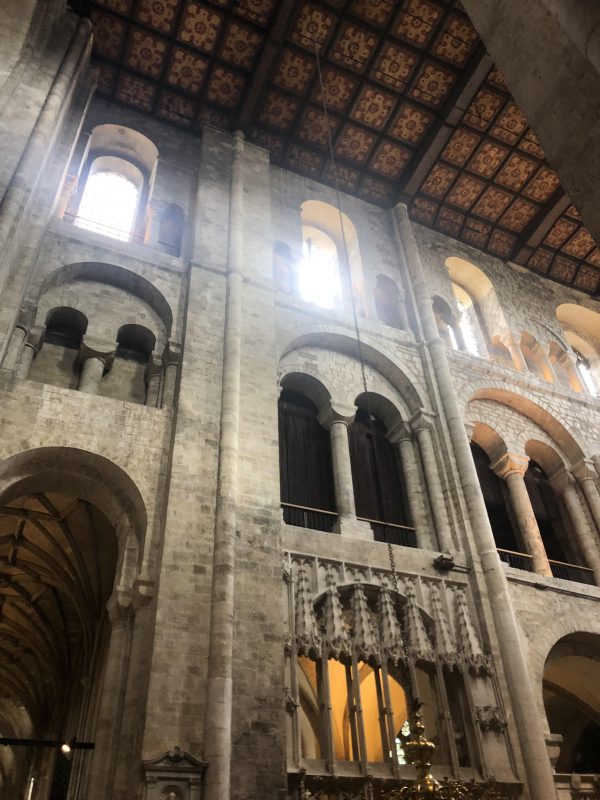
<instances>
[{"instance_id":1,"label":"brown ribbed vault seen through the lower-left archway","mask_svg":"<svg viewBox=\"0 0 600 800\"><path fill-rule=\"evenodd\" d=\"M65 726L95 668L116 562L110 522L78 497L0 506L0 735L77 734ZM0 787L18 760L0 752Z\"/></svg>"}]
</instances>

